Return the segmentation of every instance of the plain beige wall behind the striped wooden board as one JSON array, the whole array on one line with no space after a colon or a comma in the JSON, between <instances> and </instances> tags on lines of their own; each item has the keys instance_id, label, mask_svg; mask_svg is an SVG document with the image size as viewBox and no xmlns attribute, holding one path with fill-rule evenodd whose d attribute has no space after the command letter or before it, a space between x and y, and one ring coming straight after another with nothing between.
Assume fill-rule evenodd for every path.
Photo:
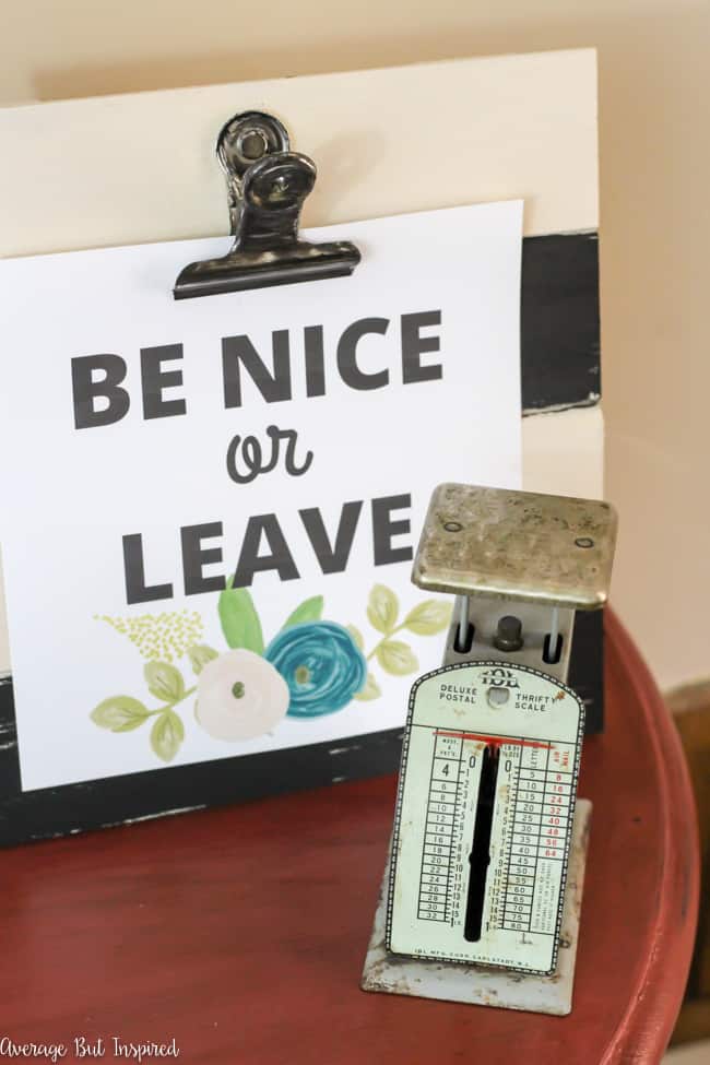
<instances>
[{"instance_id":1,"label":"plain beige wall behind the striped wooden board","mask_svg":"<svg viewBox=\"0 0 710 1065\"><path fill-rule=\"evenodd\" d=\"M0 17L0 104L596 46L614 600L663 685L710 673L710 0L4 0Z\"/></svg>"}]
</instances>

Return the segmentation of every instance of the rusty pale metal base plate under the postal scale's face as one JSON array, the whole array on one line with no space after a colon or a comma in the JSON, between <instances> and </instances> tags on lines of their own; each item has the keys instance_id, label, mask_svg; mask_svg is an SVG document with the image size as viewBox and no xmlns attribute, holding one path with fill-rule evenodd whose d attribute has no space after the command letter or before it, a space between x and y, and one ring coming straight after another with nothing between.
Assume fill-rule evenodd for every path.
<instances>
[{"instance_id":1,"label":"rusty pale metal base plate under the postal scale's face","mask_svg":"<svg viewBox=\"0 0 710 1065\"><path fill-rule=\"evenodd\" d=\"M363 969L360 981L363 991L463 1002L472 1006L496 1006L499 1009L524 1009L529 1013L554 1014L559 1017L569 1014L572 1008L575 959L591 816L592 804L589 800L578 800L572 825L572 843L555 972L548 977L528 975L487 966L419 961L390 954L384 948L390 875L388 860Z\"/></svg>"}]
</instances>

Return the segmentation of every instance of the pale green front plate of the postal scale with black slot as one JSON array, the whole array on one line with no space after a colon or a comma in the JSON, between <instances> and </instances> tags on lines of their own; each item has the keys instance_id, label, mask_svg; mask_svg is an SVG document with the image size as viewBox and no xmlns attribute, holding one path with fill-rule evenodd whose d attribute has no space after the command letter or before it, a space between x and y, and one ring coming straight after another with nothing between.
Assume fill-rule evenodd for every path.
<instances>
[{"instance_id":1,"label":"pale green front plate of the postal scale with black slot","mask_svg":"<svg viewBox=\"0 0 710 1065\"><path fill-rule=\"evenodd\" d=\"M387 947L554 972L584 725L566 685L525 666L445 666L412 689Z\"/></svg>"}]
</instances>

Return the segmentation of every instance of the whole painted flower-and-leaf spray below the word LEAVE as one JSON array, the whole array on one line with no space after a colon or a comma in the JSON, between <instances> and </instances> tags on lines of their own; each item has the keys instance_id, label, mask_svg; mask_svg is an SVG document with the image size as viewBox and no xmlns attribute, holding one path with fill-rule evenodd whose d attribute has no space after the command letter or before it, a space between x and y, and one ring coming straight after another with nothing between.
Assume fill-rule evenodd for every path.
<instances>
[{"instance_id":1,"label":"whole painted flower-and-leaf spray below the word LEAVE","mask_svg":"<svg viewBox=\"0 0 710 1065\"><path fill-rule=\"evenodd\" d=\"M213 739L239 743L279 727L285 718L309 720L336 713L355 701L382 695L376 666L390 676L418 670L416 654L401 634L434 636L449 624L451 607L425 600L401 617L395 593L376 584L367 601L367 622L376 632L365 650L363 632L323 618L322 595L304 600L267 644L251 593L230 580L217 596L217 616L226 643L220 652L201 641L200 614L187 610L130 618L96 615L128 637L146 660L143 677L150 707L128 695L109 696L92 710L95 725L113 733L133 732L152 722L150 743L164 762L186 737L182 703L196 696L194 721ZM400 637L395 639L395 637ZM197 683L186 683L175 664L187 660Z\"/></svg>"}]
</instances>

